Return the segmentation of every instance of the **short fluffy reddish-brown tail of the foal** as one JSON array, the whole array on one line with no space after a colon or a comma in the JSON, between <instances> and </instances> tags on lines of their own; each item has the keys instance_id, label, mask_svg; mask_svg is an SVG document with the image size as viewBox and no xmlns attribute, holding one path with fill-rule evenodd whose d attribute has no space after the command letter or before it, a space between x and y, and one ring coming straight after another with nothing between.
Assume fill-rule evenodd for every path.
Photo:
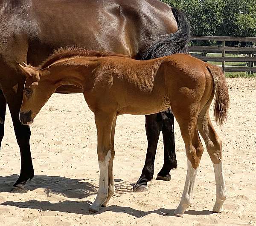
<instances>
[{"instance_id":1,"label":"short fluffy reddish-brown tail of the foal","mask_svg":"<svg viewBox=\"0 0 256 226\"><path fill-rule=\"evenodd\" d=\"M207 69L212 74L214 82L214 118L219 125L222 125L227 121L227 112L230 103L226 77L218 66L207 64Z\"/></svg>"}]
</instances>

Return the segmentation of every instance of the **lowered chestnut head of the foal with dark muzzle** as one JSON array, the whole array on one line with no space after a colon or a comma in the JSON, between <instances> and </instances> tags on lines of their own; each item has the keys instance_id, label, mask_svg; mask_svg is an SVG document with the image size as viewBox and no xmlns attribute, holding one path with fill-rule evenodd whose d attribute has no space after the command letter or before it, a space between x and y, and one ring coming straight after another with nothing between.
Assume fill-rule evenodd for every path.
<instances>
[{"instance_id":1,"label":"lowered chestnut head of the foal with dark muzzle","mask_svg":"<svg viewBox=\"0 0 256 226\"><path fill-rule=\"evenodd\" d=\"M45 73L30 65L19 65L26 75L23 91L23 100L20 107L20 121L23 124L32 124L33 119L55 91L55 84L47 81Z\"/></svg>"}]
</instances>

